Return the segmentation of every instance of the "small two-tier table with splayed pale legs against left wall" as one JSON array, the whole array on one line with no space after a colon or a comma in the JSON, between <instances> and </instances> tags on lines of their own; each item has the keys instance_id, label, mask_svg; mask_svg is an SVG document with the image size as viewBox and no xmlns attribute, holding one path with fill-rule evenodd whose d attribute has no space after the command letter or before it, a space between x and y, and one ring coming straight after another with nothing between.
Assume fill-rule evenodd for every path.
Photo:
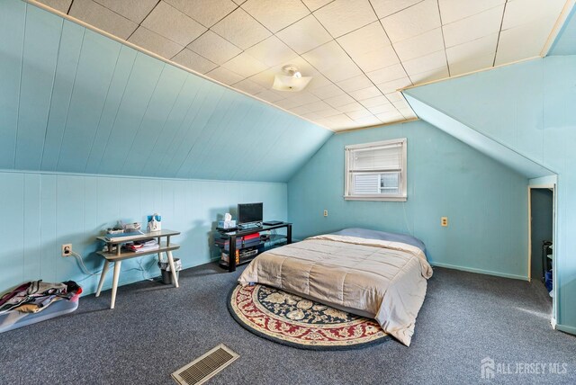
<instances>
[{"instance_id":1,"label":"small two-tier table with splayed pale legs against left wall","mask_svg":"<svg viewBox=\"0 0 576 385\"><path fill-rule=\"evenodd\" d=\"M103 241L106 244L107 250L98 252L99 255L103 256L105 261L102 273L100 275L100 282L98 283L98 290L96 291L96 297L100 296L100 291L102 291L102 286L104 279L106 277L106 273L108 272L108 267L110 266L111 263L113 263L114 276L112 279L112 301L110 303L110 309L114 309L114 304L116 302L116 291L118 290L118 277L120 276L121 262L124 259L130 259L138 256L151 255L151 254L157 254L158 260L161 260L162 253L166 253L168 264L170 264L170 272L172 272L172 282L174 283L175 287L178 287L178 278L175 272L174 257L172 256L172 251L179 249L180 246L170 243L170 237L174 237L179 234L180 234L179 231L161 230L130 237L122 237L121 234L117 236L97 237L97 239ZM165 243L161 242L163 237L166 237ZM159 247L153 250L143 252L133 252L121 249L122 244L148 238L157 238ZM116 247L116 250L113 250L114 246Z\"/></svg>"}]
</instances>

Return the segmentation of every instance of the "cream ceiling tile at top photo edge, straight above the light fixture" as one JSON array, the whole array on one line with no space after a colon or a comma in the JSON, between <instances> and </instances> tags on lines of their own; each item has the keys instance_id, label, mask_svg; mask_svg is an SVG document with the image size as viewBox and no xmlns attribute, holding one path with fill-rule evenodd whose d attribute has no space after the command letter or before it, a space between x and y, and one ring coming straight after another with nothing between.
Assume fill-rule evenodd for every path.
<instances>
[{"instance_id":1,"label":"cream ceiling tile at top photo edge, straight above the light fixture","mask_svg":"<svg viewBox=\"0 0 576 385\"><path fill-rule=\"evenodd\" d=\"M282 0L282 5L269 0L248 0L242 8L272 32L280 31L310 14L300 0Z\"/></svg>"}]
</instances>

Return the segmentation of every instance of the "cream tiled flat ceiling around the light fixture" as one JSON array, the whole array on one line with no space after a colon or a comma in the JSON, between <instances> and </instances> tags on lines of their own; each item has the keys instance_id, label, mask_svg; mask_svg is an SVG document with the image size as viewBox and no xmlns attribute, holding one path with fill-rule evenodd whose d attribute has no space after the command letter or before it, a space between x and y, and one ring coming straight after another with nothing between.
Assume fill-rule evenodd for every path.
<instances>
[{"instance_id":1,"label":"cream tiled flat ceiling around the light fixture","mask_svg":"<svg viewBox=\"0 0 576 385\"><path fill-rule=\"evenodd\" d=\"M398 89L539 56L566 1L40 0L331 130L413 119ZM302 93L272 89L287 64L313 76Z\"/></svg>"}]
</instances>

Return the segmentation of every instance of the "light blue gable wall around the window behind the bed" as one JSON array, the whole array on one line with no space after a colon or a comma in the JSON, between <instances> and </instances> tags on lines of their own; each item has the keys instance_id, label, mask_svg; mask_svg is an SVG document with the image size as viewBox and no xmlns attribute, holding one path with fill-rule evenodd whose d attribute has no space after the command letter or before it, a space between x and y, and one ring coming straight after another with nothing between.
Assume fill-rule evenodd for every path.
<instances>
[{"instance_id":1,"label":"light blue gable wall around the window behind the bed","mask_svg":"<svg viewBox=\"0 0 576 385\"><path fill-rule=\"evenodd\" d=\"M398 138L408 139L408 201L345 201L345 146ZM334 135L289 182L288 209L295 237L412 234L433 264L527 279L527 178L425 121Z\"/></svg>"}]
</instances>

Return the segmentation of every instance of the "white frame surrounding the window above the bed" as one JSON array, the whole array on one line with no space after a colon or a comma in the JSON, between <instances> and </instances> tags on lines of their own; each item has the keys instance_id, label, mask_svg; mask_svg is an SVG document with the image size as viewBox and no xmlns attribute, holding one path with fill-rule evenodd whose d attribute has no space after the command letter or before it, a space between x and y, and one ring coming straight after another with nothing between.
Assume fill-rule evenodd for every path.
<instances>
[{"instance_id":1,"label":"white frame surrounding the window above the bed","mask_svg":"<svg viewBox=\"0 0 576 385\"><path fill-rule=\"evenodd\" d=\"M366 149L366 148L384 148L388 146L401 146L401 193L396 195L382 195L382 194L351 194L350 191L352 189L352 176L353 174L350 173L349 168L349 158L352 150L356 149ZM407 201L407 181L408 181L408 168L407 168L407 140L406 138L401 139L392 139L392 140L383 140L378 142L372 143L364 143L364 144L357 144L357 145L350 145L344 149L344 158L345 158L345 190L344 190L344 199L347 201ZM374 170L377 171L377 170Z\"/></svg>"}]
</instances>

